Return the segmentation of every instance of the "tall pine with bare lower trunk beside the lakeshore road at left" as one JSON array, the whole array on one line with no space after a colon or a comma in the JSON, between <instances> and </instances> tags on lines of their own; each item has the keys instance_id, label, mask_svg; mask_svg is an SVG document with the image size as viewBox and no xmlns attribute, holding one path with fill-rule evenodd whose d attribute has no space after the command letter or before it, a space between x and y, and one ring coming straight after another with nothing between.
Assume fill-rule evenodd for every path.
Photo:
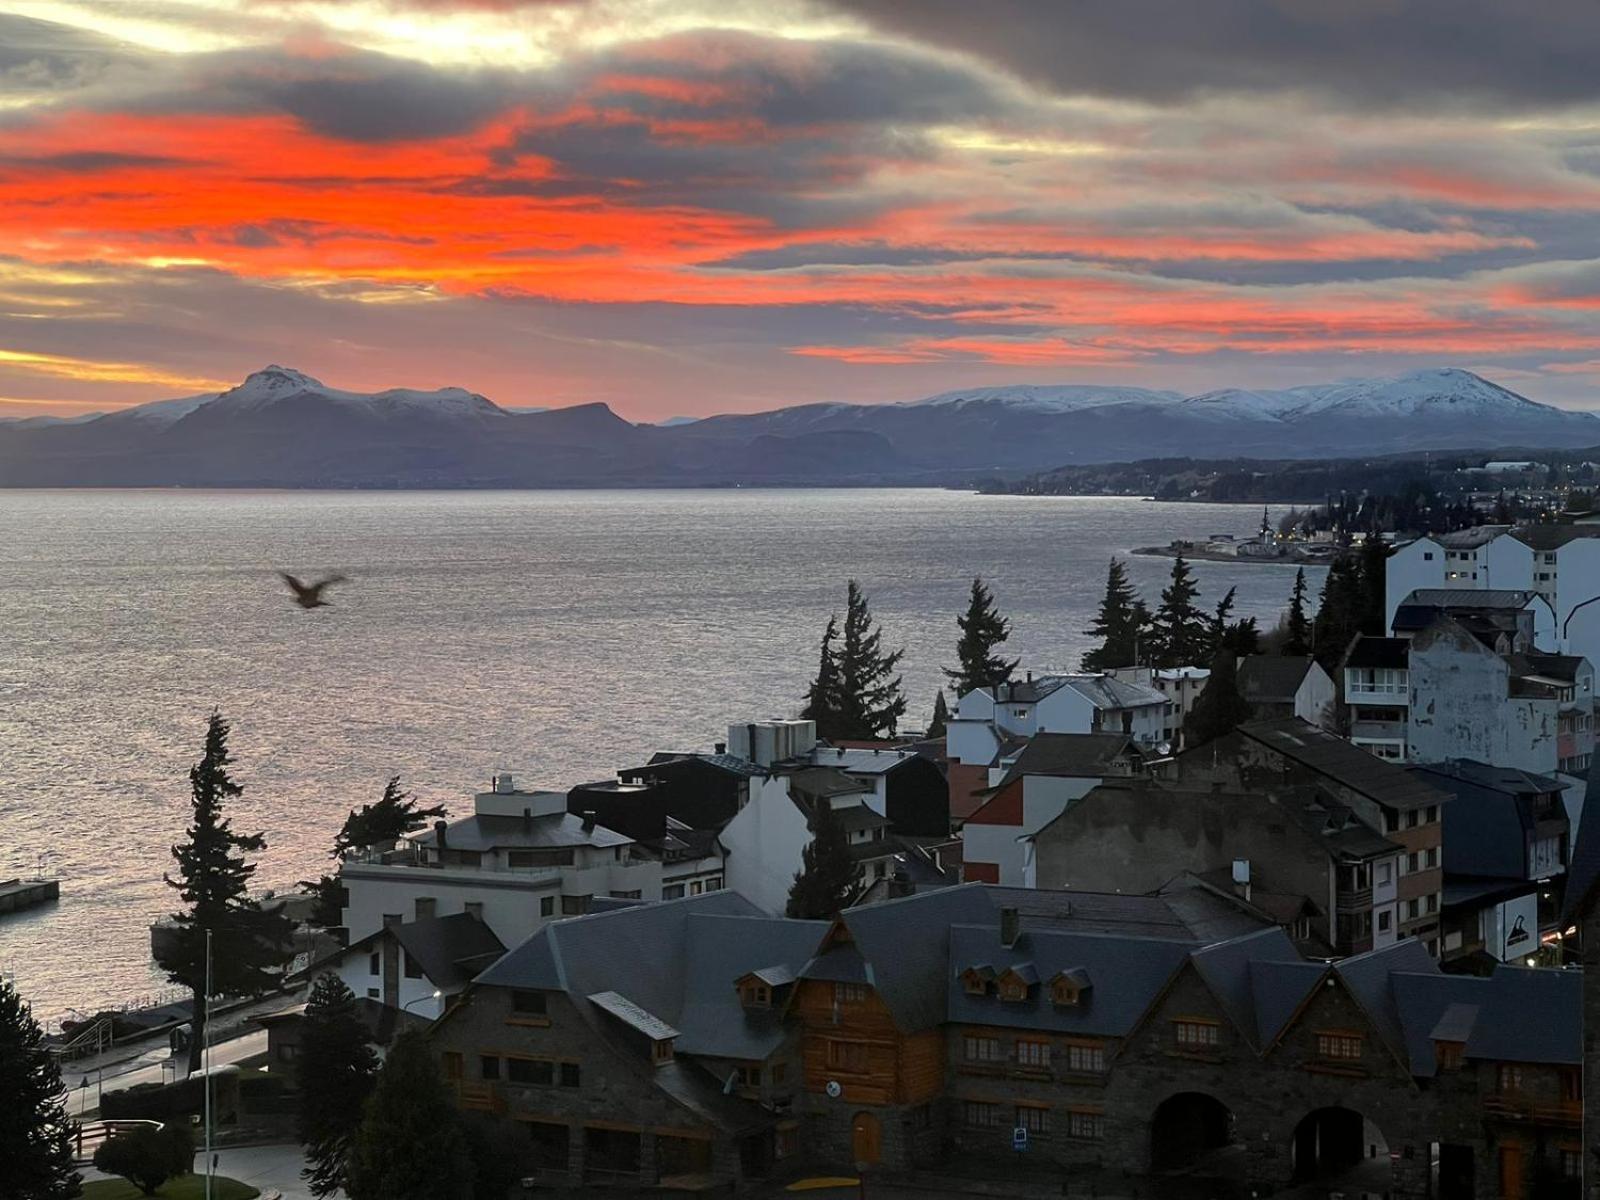
<instances>
[{"instance_id":1,"label":"tall pine with bare lower trunk beside the lakeshore road at left","mask_svg":"<svg viewBox=\"0 0 1600 1200\"><path fill-rule=\"evenodd\" d=\"M266 912L250 896L256 864L246 854L266 848L261 834L235 834L222 816L222 805L243 789L227 773L227 722L213 712L206 725L205 755L189 771L194 824L189 840L173 846L178 878L165 877L189 907L173 914L176 930L157 963L174 984L194 994L194 1037L189 1040L189 1070L200 1069L206 1008L206 933L211 934L211 992L214 995L261 995L282 979L282 950L291 925L277 912Z\"/></svg>"}]
</instances>

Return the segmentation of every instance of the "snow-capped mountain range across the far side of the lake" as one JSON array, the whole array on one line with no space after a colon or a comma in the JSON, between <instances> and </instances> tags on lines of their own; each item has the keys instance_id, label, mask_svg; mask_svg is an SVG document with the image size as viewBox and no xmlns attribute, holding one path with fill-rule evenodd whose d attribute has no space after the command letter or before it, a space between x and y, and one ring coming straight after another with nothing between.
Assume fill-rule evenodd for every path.
<instances>
[{"instance_id":1,"label":"snow-capped mountain range across the far side of the lake","mask_svg":"<svg viewBox=\"0 0 1600 1200\"><path fill-rule=\"evenodd\" d=\"M1197 395L976 387L635 426L605 405L501 408L459 387L347 392L269 366L214 395L0 422L0 486L944 483L1150 458L1589 446L1600 446L1595 414L1461 370Z\"/></svg>"}]
</instances>

